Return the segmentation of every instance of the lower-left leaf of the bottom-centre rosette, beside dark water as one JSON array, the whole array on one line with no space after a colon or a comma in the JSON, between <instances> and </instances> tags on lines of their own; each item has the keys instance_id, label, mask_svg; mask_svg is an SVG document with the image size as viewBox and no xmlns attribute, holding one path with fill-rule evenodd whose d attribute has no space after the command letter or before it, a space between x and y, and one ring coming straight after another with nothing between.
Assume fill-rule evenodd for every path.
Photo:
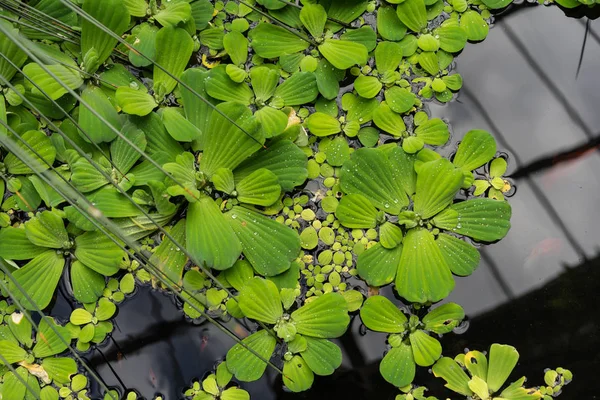
<instances>
[{"instance_id":1,"label":"lower-left leaf of the bottom-centre rosette, beside dark water","mask_svg":"<svg viewBox=\"0 0 600 400\"><path fill-rule=\"evenodd\" d=\"M242 342L261 358L247 350L243 345L236 344L227 352L227 369L235 375L236 379L243 382L252 382L260 379L265 372L277 340L266 330L260 330L248 336Z\"/></svg>"}]
</instances>

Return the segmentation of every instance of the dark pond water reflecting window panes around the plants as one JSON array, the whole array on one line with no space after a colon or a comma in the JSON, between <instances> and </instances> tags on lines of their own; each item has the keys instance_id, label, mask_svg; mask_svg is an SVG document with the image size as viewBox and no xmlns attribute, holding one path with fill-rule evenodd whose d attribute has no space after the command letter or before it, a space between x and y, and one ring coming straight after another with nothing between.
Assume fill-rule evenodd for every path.
<instances>
[{"instance_id":1,"label":"dark pond water reflecting window panes around the plants","mask_svg":"<svg viewBox=\"0 0 600 400\"><path fill-rule=\"evenodd\" d=\"M565 400L600 398L600 21L590 23L577 74L585 25L557 7L510 9L485 43L468 45L458 57L465 82L458 101L431 106L451 123L451 146L470 129L492 132L517 187L508 236L482 250L479 268L457 278L446 300L465 308L469 326L443 338L444 354L511 344L521 354L512 380L527 375L538 385L546 367L573 371ZM186 321L172 297L139 292L119 307L112 339L86 358L109 386L146 399L179 399L233 341L209 323ZM55 311L70 310L59 302ZM244 331L236 322L229 327ZM273 371L242 386L259 400L393 399L398 392L378 371L384 335L360 331L355 318L339 341L344 364L309 392L285 393ZM415 382L439 398L451 396L427 369Z\"/></svg>"}]
</instances>

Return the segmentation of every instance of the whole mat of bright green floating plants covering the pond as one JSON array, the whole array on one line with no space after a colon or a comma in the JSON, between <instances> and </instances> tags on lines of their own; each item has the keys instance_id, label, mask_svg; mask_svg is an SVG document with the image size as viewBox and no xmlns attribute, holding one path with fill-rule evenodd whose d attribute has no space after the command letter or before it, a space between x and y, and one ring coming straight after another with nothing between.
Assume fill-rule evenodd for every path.
<instances>
[{"instance_id":1,"label":"whole mat of bright green floating plants covering the pond","mask_svg":"<svg viewBox=\"0 0 600 400\"><path fill-rule=\"evenodd\" d=\"M435 399L423 367L464 397L558 395L566 369L530 386L508 381L514 347L438 340L465 313L436 303L507 234L514 188L489 132L427 103L453 101L454 57L509 3L0 0L3 398L138 398L82 357L139 285L236 343L186 398L248 399L267 369L308 390L352 318L387 334L397 399Z\"/></svg>"}]
</instances>

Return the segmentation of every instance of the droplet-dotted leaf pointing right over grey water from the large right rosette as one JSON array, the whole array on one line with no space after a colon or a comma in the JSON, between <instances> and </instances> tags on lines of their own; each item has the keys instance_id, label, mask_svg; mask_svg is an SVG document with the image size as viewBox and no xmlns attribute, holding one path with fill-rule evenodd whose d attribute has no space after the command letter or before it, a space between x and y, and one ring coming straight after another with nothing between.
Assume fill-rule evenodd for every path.
<instances>
[{"instance_id":1,"label":"droplet-dotted leaf pointing right over grey water from the large right rosette","mask_svg":"<svg viewBox=\"0 0 600 400\"><path fill-rule=\"evenodd\" d=\"M453 204L442 214L447 213L457 213L456 218L445 223L436 221L436 226L475 240L494 242L508 233L512 210L505 201L478 198Z\"/></svg>"}]
</instances>

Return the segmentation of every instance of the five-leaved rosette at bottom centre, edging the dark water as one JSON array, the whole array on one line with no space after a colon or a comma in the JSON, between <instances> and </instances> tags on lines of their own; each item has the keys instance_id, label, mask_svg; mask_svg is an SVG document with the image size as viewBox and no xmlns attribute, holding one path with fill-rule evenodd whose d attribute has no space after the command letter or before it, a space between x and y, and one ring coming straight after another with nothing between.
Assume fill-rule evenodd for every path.
<instances>
[{"instance_id":1,"label":"five-leaved rosette at bottom centre, edging the dark water","mask_svg":"<svg viewBox=\"0 0 600 400\"><path fill-rule=\"evenodd\" d=\"M289 312L296 302L294 290L279 291L274 283L255 277L241 289L238 300L246 317L273 326L276 334L259 330L242 343L268 360L275 351L277 338L283 341L286 347L283 382L291 391L307 390L315 374L331 375L341 365L340 348L327 340L341 336L350 322L348 306L341 294L324 294ZM227 353L227 368L240 381L259 379L266 366L240 344Z\"/></svg>"}]
</instances>

